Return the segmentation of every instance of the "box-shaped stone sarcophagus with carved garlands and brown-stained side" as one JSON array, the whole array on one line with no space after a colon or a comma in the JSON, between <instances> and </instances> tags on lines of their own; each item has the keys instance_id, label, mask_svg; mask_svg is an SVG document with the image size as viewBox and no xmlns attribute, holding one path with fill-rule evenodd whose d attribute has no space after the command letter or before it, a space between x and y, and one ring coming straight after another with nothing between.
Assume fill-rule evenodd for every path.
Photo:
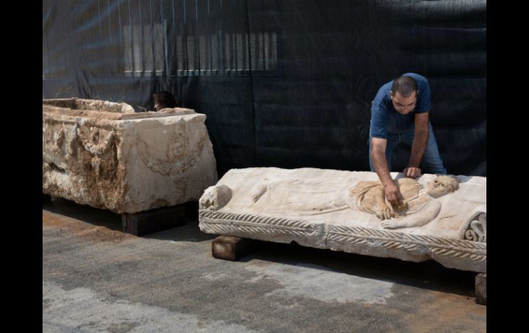
<instances>
[{"instance_id":1,"label":"box-shaped stone sarcophagus with carved garlands and brown-stained side","mask_svg":"<svg viewBox=\"0 0 529 333\"><path fill-rule=\"evenodd\" d=\"M199 200L216 183L205 115L43 100L43 194L133 214Z\"/></svg>"}]
</instances>

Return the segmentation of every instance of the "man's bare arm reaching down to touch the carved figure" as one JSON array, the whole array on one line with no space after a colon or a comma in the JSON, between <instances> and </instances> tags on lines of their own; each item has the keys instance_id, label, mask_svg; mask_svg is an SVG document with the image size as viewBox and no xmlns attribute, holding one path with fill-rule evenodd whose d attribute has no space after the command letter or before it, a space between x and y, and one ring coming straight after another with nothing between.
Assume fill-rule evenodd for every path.
<instances>
[{"instance_id":1,"label":"man's bare arm reaching down to touch the carved figure","mask_svg":"<svg viewBox=\"0 0 529 333\"><path fill-rule=\"evenodd\" d=\"M396 187L391 178L390 170L387 168L387 161L385 159L385 147L387 139L379 137L372 137L371 139L371 160L373 161L373 168L384 186L384 194L387 201L394 205L401 205L401 192Z\"/></svg>"}]
</instances>

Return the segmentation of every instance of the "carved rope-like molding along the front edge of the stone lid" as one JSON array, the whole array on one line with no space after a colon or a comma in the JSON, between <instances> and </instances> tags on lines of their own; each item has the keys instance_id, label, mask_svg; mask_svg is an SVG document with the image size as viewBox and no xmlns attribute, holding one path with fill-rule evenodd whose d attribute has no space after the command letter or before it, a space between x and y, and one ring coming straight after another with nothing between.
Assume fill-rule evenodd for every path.
<instances>
[{"instance_id":1,"label":"carved rope-like molding along the front edge of the stone lid","mask_svg":"<svg viewBox=\"0 0 529 333\"><path fill-rule=\"evenodd\" d=\"M286 218L236 214L200 210L200 222L208 231L217 234L265 234L267 236L297 236L307 238L317 231L317 224ZM427 249L434 255L455 257L486 264L486 243L411 235L397 231L364 227L326 226L326 244L361 245L391 250L420 251ZM338 244L337 244L338 243Z\"/></svg>"}]
</instances>

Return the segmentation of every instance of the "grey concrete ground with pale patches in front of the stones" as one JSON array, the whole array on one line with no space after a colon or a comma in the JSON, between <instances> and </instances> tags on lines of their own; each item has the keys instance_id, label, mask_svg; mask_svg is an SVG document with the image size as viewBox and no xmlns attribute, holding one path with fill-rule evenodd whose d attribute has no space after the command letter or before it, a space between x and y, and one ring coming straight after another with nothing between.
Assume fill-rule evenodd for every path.
<instances>
[{"instance_id":1,"label":"grey concrete ground with pale patches in front of the stones","mask_svg":"<svg viewBox=\"0 0 529 333\"><path fill-rule=\"evenodd\" d=\"M486 332L474 273L275 243L229 262L214 238L43 204L43 332Z\"/></svg>"}]
</instances>

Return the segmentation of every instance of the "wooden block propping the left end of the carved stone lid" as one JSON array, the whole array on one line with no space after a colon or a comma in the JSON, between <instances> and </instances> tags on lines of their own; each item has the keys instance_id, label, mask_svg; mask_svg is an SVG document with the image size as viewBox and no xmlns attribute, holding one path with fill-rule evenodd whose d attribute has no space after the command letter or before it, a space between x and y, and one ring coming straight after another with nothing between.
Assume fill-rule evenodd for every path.
<instances>
[{"instance_id":1,"label":"wooden block propping the left end of the carved stone lid","mask_svg":"<svg viewBox=\"0 0 529 333\"><path fill-rule=\"evenodd\" d=\"M219 236L212 242L212 255L217 259L236 261L254 252L259 244L258 240Z\"/></svg>"}]
</instances>

